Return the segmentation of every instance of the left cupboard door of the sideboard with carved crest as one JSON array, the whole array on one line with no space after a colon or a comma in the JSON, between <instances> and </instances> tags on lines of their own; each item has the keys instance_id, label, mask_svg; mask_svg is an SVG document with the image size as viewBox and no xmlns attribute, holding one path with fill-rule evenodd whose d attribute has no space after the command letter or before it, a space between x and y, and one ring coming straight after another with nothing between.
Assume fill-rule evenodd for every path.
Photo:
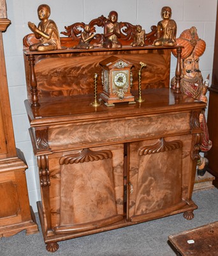
<instances>
[{"instance_id":1,"label":"left cupboard door of the sideboard with carved crest","mask_svg":"<svg viewBox=\"0 0 218 256\"><path fill-rule=\"evenodd\" d=\"M122 144L64 152L61 157L52 156L49 165L52 215L59 215L52 217L56 234L91 230L123 219Z\"/></svg>"}]
</instances>

